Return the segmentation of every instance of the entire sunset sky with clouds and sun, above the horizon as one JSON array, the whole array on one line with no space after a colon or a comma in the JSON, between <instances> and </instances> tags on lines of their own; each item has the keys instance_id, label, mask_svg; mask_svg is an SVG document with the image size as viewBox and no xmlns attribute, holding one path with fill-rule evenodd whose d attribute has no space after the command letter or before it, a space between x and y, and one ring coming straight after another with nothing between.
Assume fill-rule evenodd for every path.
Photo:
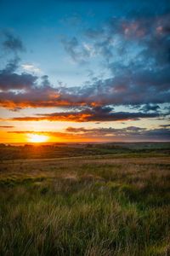
<instances>
[{"instance_id":1,"label":"entire sunset sky with clouds and sun, above the horizon","mask_svg":"<svg viewBox=\"0 0 170 256\"><path fill-rule=\"evenodd\" d=\"M170 141L169 0L0 0L0 143Z\"/></svg>"}]
</instances>

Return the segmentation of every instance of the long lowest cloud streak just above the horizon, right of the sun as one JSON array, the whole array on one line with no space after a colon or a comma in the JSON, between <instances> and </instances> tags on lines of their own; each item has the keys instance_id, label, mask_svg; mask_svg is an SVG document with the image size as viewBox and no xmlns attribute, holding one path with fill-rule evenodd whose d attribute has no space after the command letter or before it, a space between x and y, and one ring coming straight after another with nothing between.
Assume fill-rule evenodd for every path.
<instances>
[{"instance_id":1,"label":"long lowest cloud streak just above the horizon, right of the sun","mask_svg":"<svg viewBox=\"0 0 170 256\"><path fill-rule=\"evenodd\" d=\"M65 131L8 131L8 133L17 134L45 134L50 137L57 137L73 141L170 141L169 128L157 128L147 130L146 128L128 126L127 128L75 128L67 127Z\"/></svg>"}]
</instances>

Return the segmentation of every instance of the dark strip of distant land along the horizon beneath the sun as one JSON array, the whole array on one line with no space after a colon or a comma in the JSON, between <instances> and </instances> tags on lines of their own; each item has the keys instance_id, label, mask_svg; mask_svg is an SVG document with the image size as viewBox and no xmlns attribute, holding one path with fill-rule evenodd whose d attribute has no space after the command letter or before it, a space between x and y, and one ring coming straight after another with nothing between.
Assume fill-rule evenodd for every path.
<instances>
[{"instance_id":1,"label":"dark strip of distant land along the horizon beneath the sun","mask_svg":"<svg viewBox=\"0 0 170 256\"><path fill-rule=\"evenodd\" d=\"M0 160L51 159L105 154L170 154L170 143L0 144Z\"/></svg>"}]
</instances>

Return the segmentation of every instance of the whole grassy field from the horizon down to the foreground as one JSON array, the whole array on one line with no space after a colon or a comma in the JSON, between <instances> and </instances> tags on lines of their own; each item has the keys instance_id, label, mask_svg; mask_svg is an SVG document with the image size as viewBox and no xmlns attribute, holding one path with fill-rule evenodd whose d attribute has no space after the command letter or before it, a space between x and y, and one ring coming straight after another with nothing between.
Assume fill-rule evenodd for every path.
<instances>
[{"instance_id":1,"label":"whole grassy field from the horizon down to the foreground","mask_svg":"<svg viewBox=\"0 0 170 256\"><path fill-rule=\"evenodd\" d=\"M167 143L50 147L0 149L0 255L170 255Z\"/></svg>"}]
</instances>

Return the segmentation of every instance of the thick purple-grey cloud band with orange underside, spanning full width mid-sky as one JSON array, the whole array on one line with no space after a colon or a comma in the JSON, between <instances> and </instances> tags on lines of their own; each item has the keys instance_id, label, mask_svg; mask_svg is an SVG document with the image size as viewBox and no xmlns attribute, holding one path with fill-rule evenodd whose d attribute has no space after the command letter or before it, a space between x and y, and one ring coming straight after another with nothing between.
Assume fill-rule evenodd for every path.
<instances>
[{"instance_id":1,"label":"thick purple-grey cloud band with orange underside, spanning full width mid-sky","mask_svg":"<svg viewBox=\"0 0 170 256\"><path fill-rule=\"evenodd\" d=\"M49 108L99 106L152 106L170 101L168 70L141 70L133 65L111 79L99 79L77 87L54 87L48 76L17 73L19 60L8 62L0 71L0 106L4 108ZM134 69L134 70L133 70ZM151 108L151 107L150 107ZM151 109L150 109L151 110ZM154 110L154 109L152 109ZM158 108L157 108L158 110ZM146 109L142 109L146 111Z\"/></svg>"}]
</instances>

